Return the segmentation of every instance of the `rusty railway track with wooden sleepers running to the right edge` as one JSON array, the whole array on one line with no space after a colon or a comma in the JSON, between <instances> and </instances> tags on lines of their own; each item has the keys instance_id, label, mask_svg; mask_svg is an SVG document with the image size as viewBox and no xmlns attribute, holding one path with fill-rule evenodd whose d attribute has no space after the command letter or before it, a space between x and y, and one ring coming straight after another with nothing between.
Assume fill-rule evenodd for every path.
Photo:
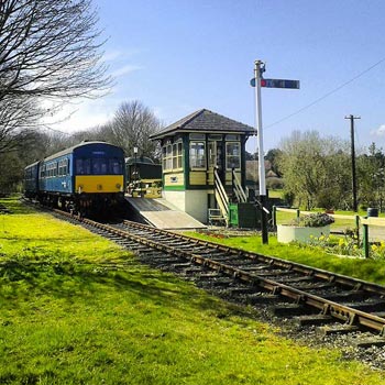
<instances>
[{"instance_id":1,"label":"rusty railway track with wooden sleepers running to the right edge","mask_svg":"<svg viewBox=\"0 0 385 385\"><path fill-rule=\"evenodd\" d=\"M78 221L67 213L72 221ZM370 331L358 346L385 345L385 287L276 257L122 221L82 226L237 302L273 305L274 315L323 336Z\"/></svg>"}]
</instances>

